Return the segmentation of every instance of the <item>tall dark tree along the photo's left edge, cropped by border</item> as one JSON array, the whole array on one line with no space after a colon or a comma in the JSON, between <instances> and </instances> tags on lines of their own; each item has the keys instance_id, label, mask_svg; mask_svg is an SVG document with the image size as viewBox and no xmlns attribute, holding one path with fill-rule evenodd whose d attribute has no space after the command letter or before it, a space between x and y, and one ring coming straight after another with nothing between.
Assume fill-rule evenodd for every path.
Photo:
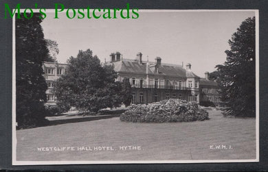
<instances>
[{"instance_id":1,"label":"tall dark tree along the photo's left edge, cropped by border","mask_svg":"<svg viewBox=\"0 0 268 172\"><path fill-rule=\"evenodd\" d=\"M45 123L47 84L42 62L48 58L42 19L16 19L16 122L17 128Z\"/></svg>"}]
</instances>

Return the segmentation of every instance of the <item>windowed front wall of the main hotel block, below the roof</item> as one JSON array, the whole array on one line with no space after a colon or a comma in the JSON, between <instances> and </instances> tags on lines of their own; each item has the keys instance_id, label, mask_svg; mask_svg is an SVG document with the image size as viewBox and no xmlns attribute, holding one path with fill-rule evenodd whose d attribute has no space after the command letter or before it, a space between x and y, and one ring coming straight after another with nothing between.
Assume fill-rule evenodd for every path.
<instances>
[{"instance_id":1,"label":"windowed front wall of the main hotel block, below the roof","mask_svg":"<svg viewBox=\"0 0 268 172\"><path fill-rule=\"evenodd\" d=\"M152 103L164 99L183 99L186 101L197 101L199 103L199 79L198 78L182 78L174 76L161 75L137 75L135 73L118 73L118 81L129 78L133 95L132 103ZM141 78L143 83L141 84ZM155 82L157 80L157 82ZM192 87L188 87L187 83L192 81ZM179 83L181 82L181 84ZM195 88L197 82L197 88ZM141 96L142 94L142 96ZM143 101L141 100L143 97Z\"/></svg>"}]
</instances>

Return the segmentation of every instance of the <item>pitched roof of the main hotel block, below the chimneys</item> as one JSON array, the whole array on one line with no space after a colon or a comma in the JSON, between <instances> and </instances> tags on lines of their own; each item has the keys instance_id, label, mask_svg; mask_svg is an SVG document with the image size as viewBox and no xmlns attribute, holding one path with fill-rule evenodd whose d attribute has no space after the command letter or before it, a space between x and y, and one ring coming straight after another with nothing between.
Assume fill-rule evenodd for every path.
<instances>
[{"instance_id":1,"label":"pitched roof of the main hotel block, below the chimneys","mask_svg":"<svg viewBox=\"0 0 268 172\"><path fill-rule=\"evenodd\" d=\"M112 62L110 64L114 65L114 70L122 73L140 73L146 75L146 69L148 69L148 74L153 74L155 71L155 63L148 62L139 64L137 60L121 60L118 62ZM147 68L148 65L148 68ZM164 64L158 66L159 75L169 75L176 77L198 77L192 71L187 71L183 69L180 65L175 64Z\"/></svg>"}]
</instances>

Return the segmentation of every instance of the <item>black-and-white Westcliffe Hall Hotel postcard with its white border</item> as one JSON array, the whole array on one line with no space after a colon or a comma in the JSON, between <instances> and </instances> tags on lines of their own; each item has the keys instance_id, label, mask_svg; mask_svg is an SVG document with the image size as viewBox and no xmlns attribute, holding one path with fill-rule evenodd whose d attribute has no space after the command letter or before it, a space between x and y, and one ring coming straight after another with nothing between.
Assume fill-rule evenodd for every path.
<instances>
[{"instance_id":1,"label":"black-and-white Westcliffe Hall Hotel postcard with its white border","mask_svg":"<svg viewBox=\"0 0 268 172\"><path fill-rule=\"evenodd\" d=\"M258 10L131 8L16 13L12 165L258 162Z\"/></svg>"}]
</instances>

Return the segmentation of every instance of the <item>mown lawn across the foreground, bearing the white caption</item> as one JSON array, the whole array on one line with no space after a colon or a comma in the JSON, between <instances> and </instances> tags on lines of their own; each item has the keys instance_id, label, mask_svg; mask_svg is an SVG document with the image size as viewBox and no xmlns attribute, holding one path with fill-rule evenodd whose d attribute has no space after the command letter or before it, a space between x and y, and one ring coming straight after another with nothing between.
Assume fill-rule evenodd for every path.
<instances>
[{"instance_id":1,"label":"mown lawn across the foreground, bearing the white caption","mask_svg":"<svg viewBox=\"0 0 268 172\"><path fill-rule=\"evenodd\" d=\"M16 132L16 160L241 160L256 158L255 119L224 118L208 110L210 120L190 123L128 123L118 117L38 127ZM227 149L210 149L225 145ZM77 147L113 147L113 151L77 151ZM141 150L120 150L139 146ZM232 149L229 149L230 146ZM38 151L37 147L74 147L74 151ZM224 148L221 146L221 148Z\"/></svg>"}]
</instances>

